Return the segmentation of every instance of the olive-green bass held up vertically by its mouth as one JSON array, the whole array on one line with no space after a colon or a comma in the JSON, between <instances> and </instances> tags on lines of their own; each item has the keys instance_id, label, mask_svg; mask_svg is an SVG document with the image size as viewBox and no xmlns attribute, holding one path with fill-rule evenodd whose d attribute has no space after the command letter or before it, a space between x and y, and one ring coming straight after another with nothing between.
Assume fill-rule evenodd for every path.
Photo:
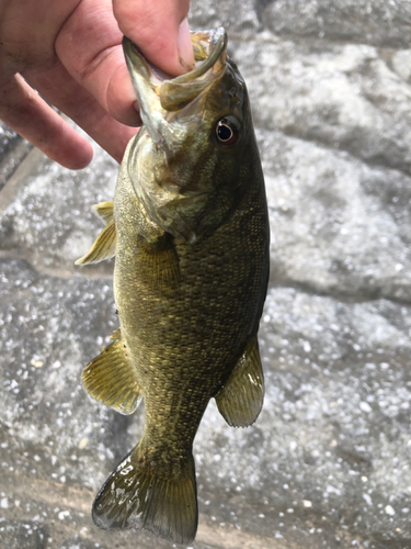
<instances>
[{"instance_id":1,"label":"olive-green bass held up vertically by its mouth","mask_svg":"<svg viewBox=\"0 0 411 549\"><path fill-rule=\"evenodd\" d=\"M171 78L127 37L142 126L129 142L106 223L78 265L115 256L119 328L84 369L95 400L132 414L141 439L98 493L103 529L196 535L193 441L208 402L230 426L263 405L258 343L270 229L250 101L222 27L192 33L196 65Z\"/></svg>"}]
</instances>

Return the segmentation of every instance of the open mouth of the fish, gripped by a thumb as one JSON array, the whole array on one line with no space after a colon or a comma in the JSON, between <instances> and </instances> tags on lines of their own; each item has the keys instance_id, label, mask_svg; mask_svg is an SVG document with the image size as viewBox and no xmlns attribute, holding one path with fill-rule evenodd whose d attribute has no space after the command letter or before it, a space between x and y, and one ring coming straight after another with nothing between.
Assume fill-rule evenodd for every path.
<instances>
[{"instance_id":1,"label":"open mouth of the fish, gripped by a thumb","mask_svg":"<svg viewBox=\"0 0 411 549\"><path fill-rule=\"evenodd\" d=\"M165 125L181 119L183 110L184 117L201 115L198 105L191 112L190 104L204 94L224 72L227 58L225 30L219 27L194 32L191 33L191 38L195 68L176 78L153 67L129 38L123 38L124 55L140 105L141 120L155 143L163 141L164 133L168 133Z\"/></svg>"}]
</instances>

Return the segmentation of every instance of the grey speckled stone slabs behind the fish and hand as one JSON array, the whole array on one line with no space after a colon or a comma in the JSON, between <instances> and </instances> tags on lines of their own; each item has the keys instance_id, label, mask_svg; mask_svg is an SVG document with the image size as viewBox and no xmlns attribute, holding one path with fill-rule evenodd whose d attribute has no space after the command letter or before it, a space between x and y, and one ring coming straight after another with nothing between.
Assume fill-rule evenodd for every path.
<instances>
[{"instance_id":1,"label":"grey speckled stone slabs behind the fish and hand","mask_svg":"<svg viewBox=\"0 0 411 549\"><path fill-rule=\"evenodd\" d=\"M195 549L411 547L411 3L192 2L244 76L271 216L258 423L210 403ZM0 126L0 547L169 548L90 507L137 441L85 395L116 327L112 265L75 268L113 195L101 149L68 171Z\"/></svg>"}]
</instances>

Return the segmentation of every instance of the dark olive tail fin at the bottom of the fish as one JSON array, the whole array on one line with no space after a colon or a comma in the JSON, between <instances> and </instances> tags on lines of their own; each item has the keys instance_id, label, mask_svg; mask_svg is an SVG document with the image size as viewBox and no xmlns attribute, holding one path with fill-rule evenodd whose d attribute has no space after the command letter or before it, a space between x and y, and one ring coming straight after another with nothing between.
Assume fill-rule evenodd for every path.
<instances>
[{"instance_id":1,"label":"dark olive tail fin at the bottom of the fish","mask_svg":"<svg viewBox=\"0 0 411 549\"><path fill-rule=\"evenodd\" d=\"M100 490L93 520L105 530L146 529L176 544L190 544L198 522L193 456L178 477L162 478L144 469L137 446Z\"/></svg>"}]
</instances>

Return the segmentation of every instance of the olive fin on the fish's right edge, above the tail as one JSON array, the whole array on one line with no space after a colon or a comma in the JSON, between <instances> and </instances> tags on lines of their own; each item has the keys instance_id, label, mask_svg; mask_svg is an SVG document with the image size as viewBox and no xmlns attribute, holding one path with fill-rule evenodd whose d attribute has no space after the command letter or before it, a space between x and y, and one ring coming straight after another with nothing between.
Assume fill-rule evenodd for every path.
<instances>
[{"instance_id":1,"label":"olive fin on the fish's right edge, above the tail","mask_svg":"<svg viewBox=\"0 0 411 549\"><path fill-rule=\"evenodd\" d=\"M216 395L218 410L228 425L247 427L255 422L263 405L264 376L259 343L252 337L227 383Z\"/></svg>"}]
</instances>

